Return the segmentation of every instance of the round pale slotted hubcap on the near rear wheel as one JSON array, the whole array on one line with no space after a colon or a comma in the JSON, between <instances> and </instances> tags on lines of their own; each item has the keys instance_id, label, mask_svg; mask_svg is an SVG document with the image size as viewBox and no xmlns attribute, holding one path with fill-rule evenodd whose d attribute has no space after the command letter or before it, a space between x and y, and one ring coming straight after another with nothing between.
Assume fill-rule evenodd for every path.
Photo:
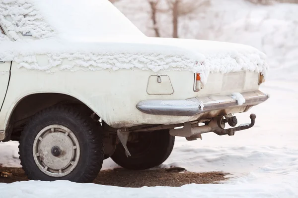
<instances>
[{"instance_id":1,"label":"round pale slotted hubcap on the near rear wheel","mask_svg":"<svg viewBox=\"0 0 298 198\"><path fill-rule=\"evenodd\" d=\"M70 174L79 160L80 148L74 133L62 125L42 129L33 143L33 157L38 168L52 177Z\"/></svg>"}]
</instances>

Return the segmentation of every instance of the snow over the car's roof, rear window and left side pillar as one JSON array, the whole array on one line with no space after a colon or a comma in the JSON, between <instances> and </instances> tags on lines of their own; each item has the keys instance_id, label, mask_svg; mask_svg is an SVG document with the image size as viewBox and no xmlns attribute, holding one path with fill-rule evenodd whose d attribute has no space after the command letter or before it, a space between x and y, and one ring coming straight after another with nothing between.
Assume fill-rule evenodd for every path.
<instances>
[{"instance_id":1,"label":"snow over the car's roof, rear window and left side pillar","mask_svg":"<svg viewBox=\"0 0 298 198\"><path fill-rule=\"evenodd\" d=\"M0 0L0 23L14 40L144 36L108 0Z\"/></svg>"}]
</instances>

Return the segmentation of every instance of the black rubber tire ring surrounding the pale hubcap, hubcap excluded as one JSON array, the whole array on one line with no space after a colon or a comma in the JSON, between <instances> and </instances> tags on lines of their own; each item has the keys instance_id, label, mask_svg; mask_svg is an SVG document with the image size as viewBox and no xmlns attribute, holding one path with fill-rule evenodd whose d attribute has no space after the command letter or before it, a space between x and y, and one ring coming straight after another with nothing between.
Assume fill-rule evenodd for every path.
<instances>
[{"instance_id":1,"label":"black rubber tire ring surrounding the pale hubcap, hubcap excluded","mask_svg":"<svg viewBox=\"0 0 298 198\"><path fill-rule=\"evenodd\" d=\"M33 156L33 144L38 133L47 126L59 124L70 129L76 136L80 154L72 172L63 177L52 177L37 166ZM32 117L21 133L19 155L22 168L32 180L69 180L92 182L98 175L103 162L103 143L96 123L70 106L53 106Z\"/></svg>"}]
</instances>

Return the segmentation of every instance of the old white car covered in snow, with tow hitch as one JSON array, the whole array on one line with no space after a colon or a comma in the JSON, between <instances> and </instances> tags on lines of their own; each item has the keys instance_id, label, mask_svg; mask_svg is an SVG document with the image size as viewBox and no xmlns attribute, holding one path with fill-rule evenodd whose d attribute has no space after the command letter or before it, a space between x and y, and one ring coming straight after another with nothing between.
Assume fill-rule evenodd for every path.
<instances>
[{"instance_id":1,"label":"old white car covered in snow, with tow hitch","mask_svg":"<svg viewBox=\"0 0 298 198\"><path fill-rule=\"evenodd\" d=\"M146 37L108 0L0 0L0 30L0 140L19 141L29 179L158 166L175 136L234 135L255 115L233 114L268 99L264 53Z\"/></svg>"}]
</instances>

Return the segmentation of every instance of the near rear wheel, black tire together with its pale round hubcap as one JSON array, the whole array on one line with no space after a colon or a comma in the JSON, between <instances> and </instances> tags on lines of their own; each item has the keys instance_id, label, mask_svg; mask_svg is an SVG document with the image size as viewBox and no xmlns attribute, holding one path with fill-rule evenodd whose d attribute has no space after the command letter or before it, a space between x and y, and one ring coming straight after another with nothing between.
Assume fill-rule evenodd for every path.
<instances>
[{"instance_id":1,"label":"near rear wheel, black tire together with its pale round hubcap","mask_svg":"<svg viewBox=\"0 0 298 198\"><path fill-rule=\"evenodd\" d=\"M96 123L66 106L35 115L21 133L19 150L21 165L33 180L92 182L103 161Z\"/></svg>"}]
</instances>

